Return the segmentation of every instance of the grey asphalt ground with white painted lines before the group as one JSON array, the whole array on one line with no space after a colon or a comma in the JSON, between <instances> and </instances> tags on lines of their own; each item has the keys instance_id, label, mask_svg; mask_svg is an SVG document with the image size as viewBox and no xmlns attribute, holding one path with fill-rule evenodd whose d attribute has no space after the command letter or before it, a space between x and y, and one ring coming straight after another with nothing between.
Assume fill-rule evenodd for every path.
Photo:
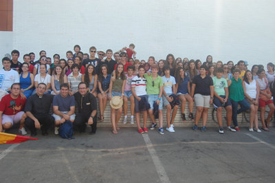
<instances>
[{"instance_id":1,"label":"grey asphalt ground with white painted lines before the group","mask_svg":"<svg viewBox=\"0 0 275 183\"><path fill-rule=\"evenodd\" d=\"M39 132L39 140L0 145L1 182L274 182L274 128L217 130L114 135L99 127L73 140Z\"/></svg>"}]
</instances>

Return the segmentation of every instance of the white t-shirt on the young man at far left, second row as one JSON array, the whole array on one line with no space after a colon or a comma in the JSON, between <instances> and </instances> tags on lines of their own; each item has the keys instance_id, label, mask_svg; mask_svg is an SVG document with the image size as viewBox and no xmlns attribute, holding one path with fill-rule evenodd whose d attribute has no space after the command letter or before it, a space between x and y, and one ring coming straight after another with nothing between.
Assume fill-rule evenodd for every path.
<instances>
[{"instance_id":1,"label":"white t-shirt on the young man at far left, second row","mask_svg":"<svg viewBox=\"0 0 275 183\"><path fill-rule=\"evenodd\" d=\"M0 69L0 89L7 90L13 83L20 83L19 74L14 69L5 71Z\"/></svg>"}]
</instances>

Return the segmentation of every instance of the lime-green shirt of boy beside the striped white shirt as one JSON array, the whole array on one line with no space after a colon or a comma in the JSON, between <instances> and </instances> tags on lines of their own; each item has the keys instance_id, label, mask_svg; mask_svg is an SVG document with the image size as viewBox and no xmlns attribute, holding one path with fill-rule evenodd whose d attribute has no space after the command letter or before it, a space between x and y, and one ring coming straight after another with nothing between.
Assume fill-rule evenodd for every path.
<instances>
[{"instance_id":1,"label":"lime-green shirt of boy beside the striped white shirt","mask_svg":"<svg viewBox=\"0 0 275 183\"><path fill-rule=\"evenodd\" d=\"M159 87L162 87L163 80L161 76L157 76L155 80L153 80L153 74L148 76L144 74L144 78L146 78L146 92L147 95L158 95L159 94ZM153 84L154 81L154 84Z\"/></svg>"}]
</instances>

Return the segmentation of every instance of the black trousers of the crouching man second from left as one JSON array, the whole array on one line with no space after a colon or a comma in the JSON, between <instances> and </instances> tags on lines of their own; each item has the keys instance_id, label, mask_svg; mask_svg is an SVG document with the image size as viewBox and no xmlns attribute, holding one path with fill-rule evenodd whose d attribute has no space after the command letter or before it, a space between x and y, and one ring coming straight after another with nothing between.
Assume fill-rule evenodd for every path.
<instances>
[{"instance_id":1,"label":"black trousers of the crouching man second from left","mask_svg":"<svg viewBox=\"0 0 275 183\"><path fill-rule=\"evenodd\" d=\"M40 125L41 125L41 131L47 132L47 130L50 128L52 124L54 124L54 117L50 114L34 114L34 117L39 120ZM25 119L25 127L30 129L31 133L36 132L36 128L34 126L34 120L31 118L27 117Z\"/></svg>"}]
</instances>

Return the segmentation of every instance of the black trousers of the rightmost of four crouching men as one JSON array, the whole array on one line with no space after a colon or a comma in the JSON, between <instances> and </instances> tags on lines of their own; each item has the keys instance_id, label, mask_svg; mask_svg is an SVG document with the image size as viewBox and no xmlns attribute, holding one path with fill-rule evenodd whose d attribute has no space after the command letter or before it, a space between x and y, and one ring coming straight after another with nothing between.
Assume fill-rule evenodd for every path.
<instances>
[{"instance_id":1,"label":"black trousers of the rightmost of four crouching men","mask_svg":"<svg viewBox=\"0 0 275 183\"><path fill-rule=\"evenodd\" d=\"M84 132L86 127L85 122L88 122L89 118L90 118L90 114L83 114L83 113L76 114L76 118L74 119L74 126L77 127L80 132ZM98 122L97 119L98 119L97 115L94 116L93 118L94 123L93 125L90 125L91 133L96 133L96 124Z\"/></svg>"}]
</instances>

